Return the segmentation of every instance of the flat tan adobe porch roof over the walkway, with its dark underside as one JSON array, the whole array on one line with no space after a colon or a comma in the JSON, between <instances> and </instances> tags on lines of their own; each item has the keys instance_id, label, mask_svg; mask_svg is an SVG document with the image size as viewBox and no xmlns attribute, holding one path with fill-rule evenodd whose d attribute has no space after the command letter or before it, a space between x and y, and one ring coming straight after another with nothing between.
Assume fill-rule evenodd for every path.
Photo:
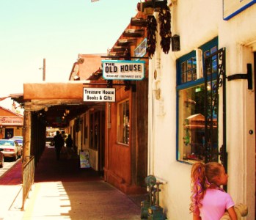
<instances>
[{"instance_id":1,"label":"flat tan adobe porch roof over the walkway, with its dark underside","mask_svg":"<svg viewBox=\"0 0 256 220\"><path fill-rule=\"evenodd\" d=\"M26 111L43 114L48 126L65 127L68 121L88 109L103 110L105 107L105 103L84 102L84 87L102 86L90 84L90 81L27 83L23 84L23 94L14 94L10 97L20 103ZM67 110L69 114L65 115L65 123L59 123L59 119Z\"/></svg>"}]
</instances>

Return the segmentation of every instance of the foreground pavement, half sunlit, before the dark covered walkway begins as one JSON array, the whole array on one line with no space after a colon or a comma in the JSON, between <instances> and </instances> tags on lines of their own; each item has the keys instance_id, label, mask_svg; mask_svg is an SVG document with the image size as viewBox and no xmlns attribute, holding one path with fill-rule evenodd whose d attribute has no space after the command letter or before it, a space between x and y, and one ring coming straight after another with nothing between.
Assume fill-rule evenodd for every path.
<instances>
[{"instance_id":1,"label":"foreground pavement, half sunlit, before the dark covered walkway begins","mask_svg":"<svg viewBox=\"0 0 256 220\"><path fill-rule=\"evenodd\" d=\"M23 219L140 219L139 207L101 181L37 183Z\"/></svg>"}]
</instances>

